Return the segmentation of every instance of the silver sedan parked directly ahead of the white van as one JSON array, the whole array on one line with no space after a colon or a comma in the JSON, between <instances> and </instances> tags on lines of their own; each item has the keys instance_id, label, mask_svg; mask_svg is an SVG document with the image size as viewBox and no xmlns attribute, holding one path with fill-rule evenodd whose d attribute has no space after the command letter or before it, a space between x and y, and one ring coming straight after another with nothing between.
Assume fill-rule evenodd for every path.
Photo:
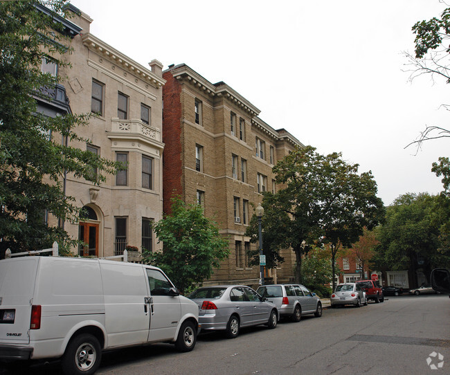
<instances>
[{"instance_id":1,"label":"silver sedan parked directly ahead of the white van","mask_svg":"<svg viewBox=\"0 0 450 375\"><path fill-rule=\"evenodd\" d=\"M188 297L199 305L201 331L224 330L228 338L237 337L242 327L275 328L279 319L274 304L244 285L205 286Z\"/></svg>"}]
</instances>

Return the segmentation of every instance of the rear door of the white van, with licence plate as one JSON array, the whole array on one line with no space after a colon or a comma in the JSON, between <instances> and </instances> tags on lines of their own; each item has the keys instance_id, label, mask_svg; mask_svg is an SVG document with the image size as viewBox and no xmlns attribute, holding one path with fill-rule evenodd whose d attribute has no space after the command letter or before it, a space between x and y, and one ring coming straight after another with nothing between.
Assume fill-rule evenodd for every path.
<instances>
[{"instance_id":1,"label":"rear door of the white van, with licence plate","mask_svg":"<svg viewBox=\"0 0 450 375\"><path fill-rule=\"evenodd\" d=\"M31 300L39 257L0 261L0 342L30 342Z\"/></svg>"}]
</instances>

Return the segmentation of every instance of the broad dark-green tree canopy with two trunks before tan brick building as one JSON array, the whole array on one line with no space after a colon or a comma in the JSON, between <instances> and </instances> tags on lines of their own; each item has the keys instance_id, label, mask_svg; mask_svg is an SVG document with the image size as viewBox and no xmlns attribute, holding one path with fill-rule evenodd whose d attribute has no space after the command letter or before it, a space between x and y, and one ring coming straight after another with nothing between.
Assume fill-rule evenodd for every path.
<instances>
[{"instance_id":1,"label":"broad dark-green tree canopy with two trunks before tan brick building","mask_svg":"<svg viewBox=\"0 0 450 375\"><path fill-rule=\"evenodd\" d=\"M296 282L301 280L302 256L312 247L330 244L334 272L341 244L350 246L364 226L372 228L384 216L370 172L358 174L358 165L345 163L341 154L323 156L315 150L297 148L279 161L273 172L282 189L264 194L262 201L270 212L263 238L269 238L271 251L294 251ZM254 238L255 228L249 230Z\"/></svg>"}]
</instances>

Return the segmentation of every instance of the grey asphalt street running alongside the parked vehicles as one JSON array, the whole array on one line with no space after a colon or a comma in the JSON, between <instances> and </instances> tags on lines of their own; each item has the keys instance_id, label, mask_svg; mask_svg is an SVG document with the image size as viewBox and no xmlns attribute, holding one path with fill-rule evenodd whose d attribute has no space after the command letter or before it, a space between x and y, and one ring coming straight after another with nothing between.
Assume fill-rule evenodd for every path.
<instances>
[{"instance_id":1,"label":"grey asphalt street running alongside the parked vehicles","mask_svg":"<svg viewBox=\"0 0 450 375\"><path fill-rule=\"evenodd\" d=\"M97 374L449 374L449 318L448 295L389 297L232 340L203 334L186 354L168 344L111 351ZM57 361L3 373L61 374Z\"/></svg>"}]
</instances>

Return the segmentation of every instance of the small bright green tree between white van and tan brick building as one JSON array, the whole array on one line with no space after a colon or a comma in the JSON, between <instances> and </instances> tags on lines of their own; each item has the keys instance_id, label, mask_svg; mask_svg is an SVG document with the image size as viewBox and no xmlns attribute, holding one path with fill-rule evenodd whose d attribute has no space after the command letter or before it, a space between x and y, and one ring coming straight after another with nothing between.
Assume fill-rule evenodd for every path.
<instances>
[{"instance_id":1,"label":"small bright green tree between white van and tan brick building","mask_svg":"<svg viewBox=\"0 0 450 375\"><path fill-rule=\"evenodd\" d=\"M178 196L172 198L172 213L153 228L163 250L143 251L144 262L160 267L181 293L208 279L228 257L228 241L217 223L204 216L201 205L187 205Z\"/></svg>"}]
</instances>

